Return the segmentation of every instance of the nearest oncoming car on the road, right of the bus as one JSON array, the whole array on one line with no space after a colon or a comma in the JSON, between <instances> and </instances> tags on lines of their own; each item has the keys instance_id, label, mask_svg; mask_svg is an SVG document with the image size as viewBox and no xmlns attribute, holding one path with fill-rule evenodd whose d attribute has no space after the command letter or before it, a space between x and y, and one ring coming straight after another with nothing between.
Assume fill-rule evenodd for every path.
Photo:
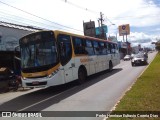
<instances>
[{"instance_id":1,"label":"nearest oncoming car on the road, right of the bus","mask_svg":"<svg viewBox=\"0 0 160 120\"><path fill-rule=\"evenodd\" d=\"M131 60L131 65L147 65L148 64L148 57L146 57L144 54L137 54L133 57Z\"/></svg>"}]
</instances>

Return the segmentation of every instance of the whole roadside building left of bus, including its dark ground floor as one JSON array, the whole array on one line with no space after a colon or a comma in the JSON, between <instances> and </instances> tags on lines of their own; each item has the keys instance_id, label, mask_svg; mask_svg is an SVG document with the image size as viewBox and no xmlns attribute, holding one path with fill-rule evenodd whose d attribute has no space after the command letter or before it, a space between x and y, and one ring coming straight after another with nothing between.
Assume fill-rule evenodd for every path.
<instances>
[{"instance_id":1,"label":"whole roadside building left of bus, including its dark ground floor","mask_svg":"<svg viewBox=\"0 0 160 120\"><path fill-rule=\"evenodd\" d=\"M19 45L19 39L38 30L42 29L0 21L0 67L9 67L14 70L14 49Z\"/></svg>"}]
</instances>

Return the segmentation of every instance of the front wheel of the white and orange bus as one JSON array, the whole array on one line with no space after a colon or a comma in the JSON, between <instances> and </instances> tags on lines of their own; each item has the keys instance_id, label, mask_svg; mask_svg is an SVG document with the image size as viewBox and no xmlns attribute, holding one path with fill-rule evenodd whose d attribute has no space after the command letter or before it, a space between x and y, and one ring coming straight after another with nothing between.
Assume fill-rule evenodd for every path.
<instances>
[{"instance_id":1,"label":"front wheel of the white and orange bus","mask_svg":"<svg viewBox=\"0 0 160 120\"><path fill-rule=\"evenodd\" d=\"M87 78L87 71L85 67L80 67L78 70L78 84L83 84Z\"/></svg>"}]
</instances>

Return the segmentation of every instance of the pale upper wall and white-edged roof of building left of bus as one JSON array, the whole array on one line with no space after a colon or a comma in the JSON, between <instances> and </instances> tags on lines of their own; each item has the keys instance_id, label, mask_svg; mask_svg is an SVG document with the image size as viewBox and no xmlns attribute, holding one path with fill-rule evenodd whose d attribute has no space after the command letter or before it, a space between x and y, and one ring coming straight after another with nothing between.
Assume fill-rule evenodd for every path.
<instances>
[{"instance_id":1,"label":"pale upper wall and white-edged roof of building left of bus","mask_svg":"<svg viewBox=\"0 0 160 120\"><path fill-rule=\"evenodd\" d=\"M22 36L38 30L42 29L0 21L0 51L14 51Z\"/></svg>"}]
</instances>

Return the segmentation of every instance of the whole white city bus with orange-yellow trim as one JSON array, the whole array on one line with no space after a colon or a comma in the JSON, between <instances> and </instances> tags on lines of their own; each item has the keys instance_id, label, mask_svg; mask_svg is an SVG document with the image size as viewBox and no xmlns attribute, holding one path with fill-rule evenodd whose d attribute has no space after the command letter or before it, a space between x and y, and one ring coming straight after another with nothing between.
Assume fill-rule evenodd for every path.
<instances>
[{"instance_id":1,"label":"whole white city bus with orange-yellow trim","mask_svg":"<svg viewBox=\"0 0 160 120\"><path fill-rule=\"evenodd\" d=\"M120 63L117 43L63 31L39 31L20 39L23 87L49 87Z\"/></svg>"}]
</instances>

